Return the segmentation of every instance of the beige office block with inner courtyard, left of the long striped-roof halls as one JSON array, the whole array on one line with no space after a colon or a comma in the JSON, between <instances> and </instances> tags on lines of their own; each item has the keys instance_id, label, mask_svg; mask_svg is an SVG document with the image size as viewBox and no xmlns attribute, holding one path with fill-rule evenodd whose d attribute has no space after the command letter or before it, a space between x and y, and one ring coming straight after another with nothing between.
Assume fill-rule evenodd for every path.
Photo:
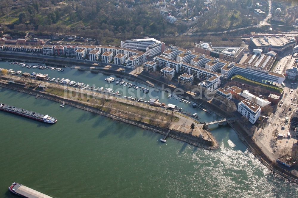
<instances>
[{"instance_id":1,"label":"beige office block with inner courtyard, left of the long striped-roof halls","mask_svg":"<svg viewBox=\"0 0 298 198\"><path fill-rule=\"evenodd\" d=\"M223 59L231 62L239 62L244 54L244 48L212 47L210 42L201 42L195 46L195 52Z\"/></svg>"}]
</instances>

